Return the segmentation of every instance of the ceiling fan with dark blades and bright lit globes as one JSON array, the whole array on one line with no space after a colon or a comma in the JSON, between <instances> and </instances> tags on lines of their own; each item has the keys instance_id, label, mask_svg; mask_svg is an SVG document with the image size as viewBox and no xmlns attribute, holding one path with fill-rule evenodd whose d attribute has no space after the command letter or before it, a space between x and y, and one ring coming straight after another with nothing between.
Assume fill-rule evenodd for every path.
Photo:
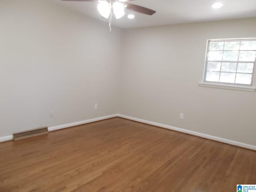
<instances>
[{"instance_id":1,"label":"ceiling fan with dark blades and bright lit globes","mask_svg":"<svg viewBox=\"0 0 256 192\"><path fill-rule=\"evenodd\" d=\"M156 11L146 7L127 3L132 0L62 0L62 1L83 1L83 2L98 2L98 11L104 18L109 18L109 30L111 31L112 14L114 13L116 19L124 16L125 9L129 9L138 13L153 15Z\"/></svg>"}]
</instances>

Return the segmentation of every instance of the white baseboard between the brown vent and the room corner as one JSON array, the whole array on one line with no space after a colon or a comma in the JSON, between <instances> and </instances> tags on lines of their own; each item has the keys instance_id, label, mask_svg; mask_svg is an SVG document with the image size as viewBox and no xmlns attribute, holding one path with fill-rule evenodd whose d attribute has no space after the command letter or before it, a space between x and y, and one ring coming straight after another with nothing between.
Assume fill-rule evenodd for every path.
<instances>
[{"instance_id":1,"label":"white baseboard between the brown vent and the room corner","mask_svg":"<svg viewBox=\"0 0 256 192\"><path fill-rule=\"evenodd\" d=\"M48 131L49 132L50 131L56 131L56 130L59 130L59 129L64 129L64 128L78 126L78 125L82 125L82 124L86 124L86 123L96 122L96 121L100 121L100 120L104 120L104 119L109 119L109 118L113 118L113 117L117 117L117 116L118 116L117 114L113 114L113 115L108 115L108 116L88 119L88 120L84 120L84 121L68 123L68 124L64 124L64 125L58 125L58 126L54 126L54 127L48 127Z\"/></svg>"}]
</instances>

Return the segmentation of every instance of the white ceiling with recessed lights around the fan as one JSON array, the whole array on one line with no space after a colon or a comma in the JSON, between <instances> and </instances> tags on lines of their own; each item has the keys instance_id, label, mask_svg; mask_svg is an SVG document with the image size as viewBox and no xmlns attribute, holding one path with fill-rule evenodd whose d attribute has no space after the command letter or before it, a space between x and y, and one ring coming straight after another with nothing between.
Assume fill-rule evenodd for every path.
<instances>
[{"instance_id":1,"label":"white ceiling with recessed lights around the fan","mask_svg":"<svg viewBox=\"0 0 256 192\"><path fill-rule=\"evenodd\" d=\"M51 0L70 9L81 12L92 18L108 22L97 10L96 2L66 2ZM222 2L224 6L213 9L214 2ZM134 0L132 4L145 6L156 10L156 14L148 16L126 10L124 17L113 19L113 24L121 28L159 26L198 21L223 20L232 18L256 17L256 0ZM134 14L134 19L128 19L128 14Z\"/></svg>"}]
</instances>

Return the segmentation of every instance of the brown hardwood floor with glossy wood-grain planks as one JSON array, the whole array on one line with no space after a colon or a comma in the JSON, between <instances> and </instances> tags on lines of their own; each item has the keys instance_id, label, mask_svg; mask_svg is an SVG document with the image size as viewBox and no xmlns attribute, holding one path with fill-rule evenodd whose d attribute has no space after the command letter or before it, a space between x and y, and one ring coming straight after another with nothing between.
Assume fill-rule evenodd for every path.
<instances>
[{"instance_id":1,"label":"brown hardwood floor with glossy wood-grain planks","mask_svg":"<svg viewBox=\"0 0 256 192\"><path fill-rule=\"evenodd\" d=\"M256 152L112 118L0 144L0 192L232 192Z\"/></svg>"}]
</instances>

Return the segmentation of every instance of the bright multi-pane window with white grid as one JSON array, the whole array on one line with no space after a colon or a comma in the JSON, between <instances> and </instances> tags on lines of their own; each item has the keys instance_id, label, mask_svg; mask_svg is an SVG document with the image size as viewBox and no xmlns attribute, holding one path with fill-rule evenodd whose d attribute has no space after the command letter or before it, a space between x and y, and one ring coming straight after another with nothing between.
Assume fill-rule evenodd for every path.
<instances>
[{"instance_id":1,"label":"bright multi-pane window with white grid","mask_svg":"<svg viewBox=\"0 0 256 192\"><path fill-rule=\"evenodd\" d=\"M208 40L204 82L252 86L256 38Z\"/></svg>"}]
</instances>

